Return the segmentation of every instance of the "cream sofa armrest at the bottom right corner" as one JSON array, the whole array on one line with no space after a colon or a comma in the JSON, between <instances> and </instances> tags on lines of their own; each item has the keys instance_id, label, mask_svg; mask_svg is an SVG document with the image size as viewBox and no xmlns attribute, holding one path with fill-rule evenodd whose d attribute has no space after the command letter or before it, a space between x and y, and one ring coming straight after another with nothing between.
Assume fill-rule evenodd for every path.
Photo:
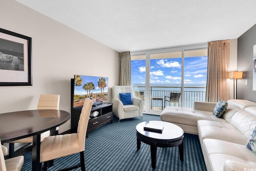
<instances>
[{"instance_id":1,"label":"cream sofa armrest at the bottom right corner","mask_svg":"<svg viewBox=\"0 0 256 171\"><path fill-rule=\"evenodd\" d=\"M223 171L254 171L256 170L256 165L251 165L249 163L242 163L234 160L226 160L224 163Z\"/></svg>"}]
</instances>

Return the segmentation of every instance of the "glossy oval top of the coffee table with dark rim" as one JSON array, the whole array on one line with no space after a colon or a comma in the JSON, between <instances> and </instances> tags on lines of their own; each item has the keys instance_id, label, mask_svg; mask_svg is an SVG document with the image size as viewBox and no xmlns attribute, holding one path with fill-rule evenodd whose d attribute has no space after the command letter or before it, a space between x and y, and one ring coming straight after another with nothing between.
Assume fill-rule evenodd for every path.
<instances>
[{"instance_id":1,"label":"glossy oval top of the coffee table with dark rim","mask_svg":"<svg viewBox=\"0 0 256 171\"><path fill-rule=\"evenodd\" d=\"M152 124L152 125L163 125L164 129L161 133L157 132L150 132L150 131L144 131L144 126L146 124ZM180 140L183 137L184 131L179 126L164 122L164 121L146 121L141 122L136 126L137 134L139 134L141 137L146 138L147 140L150 140L150 142L174 142L176 140Z\"/></svg>"}]
</instances>

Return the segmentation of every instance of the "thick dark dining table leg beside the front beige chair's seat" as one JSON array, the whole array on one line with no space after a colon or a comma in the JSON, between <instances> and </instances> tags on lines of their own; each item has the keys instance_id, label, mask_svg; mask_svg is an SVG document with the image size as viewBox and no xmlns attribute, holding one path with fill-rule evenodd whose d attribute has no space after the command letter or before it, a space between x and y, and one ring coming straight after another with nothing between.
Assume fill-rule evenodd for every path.
<instances>
[{"instance_id":1,"label":"thick dark dining table leg beside the front beige chair's seat","mask_svg":"<svg viewBox=\"0 0 256 171\"><path fill-rule=\"evenodd\" d=\"M32 171L40 171L40 139L41 135L37 134L33 136L33 145L32 145Z\"/></svg>"}]
</instances>

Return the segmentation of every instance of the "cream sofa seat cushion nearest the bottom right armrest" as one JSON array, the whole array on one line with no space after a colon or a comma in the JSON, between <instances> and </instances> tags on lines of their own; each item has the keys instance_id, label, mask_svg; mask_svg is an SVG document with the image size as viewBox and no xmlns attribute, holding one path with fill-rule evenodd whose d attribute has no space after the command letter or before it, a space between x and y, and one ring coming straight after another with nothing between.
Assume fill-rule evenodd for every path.
<instances>
[{"instance_id":1,"label":"cream sofa seat cushion nearest the bottom right armrest","mask_svg":"<svg viewBox=\"0 0 256 171\"><path fill-rule=\"evenodd\" d=\"M208 171L222 171L227 159L256 165L255 154L245 145L215 139L204 139L201 144Z\"/></svg>"}]
</instances>

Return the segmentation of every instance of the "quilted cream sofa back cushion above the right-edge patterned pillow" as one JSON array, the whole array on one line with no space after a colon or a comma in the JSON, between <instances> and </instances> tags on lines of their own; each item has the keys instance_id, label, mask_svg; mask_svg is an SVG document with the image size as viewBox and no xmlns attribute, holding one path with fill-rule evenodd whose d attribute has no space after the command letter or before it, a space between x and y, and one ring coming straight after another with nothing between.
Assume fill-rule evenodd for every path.
<instances>
[{"instance_id":1,"label":"quilted cream sofa back cushion above the right-edge patterned pillow","mask_svg":"<svg viewBox=\"0 0 256 171\"><path fill-rule=\"evenodd\" d=\"M242 132L246 138L249 138L256 126L256 116L244 110L238 110L232 117L230 124Z\"/></svg>"}]
</instances>

